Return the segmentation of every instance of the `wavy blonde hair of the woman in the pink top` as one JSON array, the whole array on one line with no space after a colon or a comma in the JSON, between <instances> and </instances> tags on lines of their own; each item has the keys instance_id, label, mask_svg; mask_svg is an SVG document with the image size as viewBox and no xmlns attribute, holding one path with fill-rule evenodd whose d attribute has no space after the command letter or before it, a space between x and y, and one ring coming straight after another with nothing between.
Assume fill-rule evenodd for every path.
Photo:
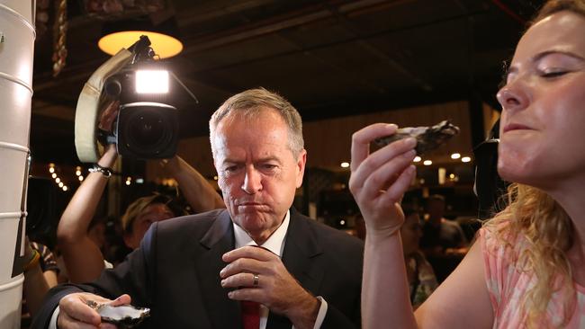
<instances>
[{"instance_id":1,"label":"wavy blonde hair of the woman in the pink top","mask_svg":"<svg viewBox=\"0 0 585 329\"><path fill-rule=\"evenodd\" d=\"M531 24L563 11L585 17L585 0L550 0ZM571 320L577 302L571 263L567 257L575 239L571 218L551 196L535 187L511 184L508 202L509 206L485 226L512 251L513 259L509 261L516 264L518 271L535 275L535 285L522 300L527 326L563 327ZM518 241L518 238L526 244L510 243ZM546 310L555 292L567 296L562 301L563 318L560 324L546 322Z\"/></svg>"}]
</instances>

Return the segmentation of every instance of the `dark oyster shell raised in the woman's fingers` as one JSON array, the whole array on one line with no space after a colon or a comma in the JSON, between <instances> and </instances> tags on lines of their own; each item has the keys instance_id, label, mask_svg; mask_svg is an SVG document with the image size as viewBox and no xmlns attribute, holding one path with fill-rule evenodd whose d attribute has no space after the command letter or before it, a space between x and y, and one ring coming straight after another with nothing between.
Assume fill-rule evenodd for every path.
<instances>
[{"instance_id":1,"label":"dark oyster shell raised in the woman's fingers","mask_svg":"<svg viewBox=\"0 0 585 329\"><path fill-rule=\"evenodd\" d=\"M383 147L402 138L417 138L417 155L421 156L446 143L449 138L459 133L459 127L449 120L443 120L433 127L405 127L398 129L395 134L374 139L374 143Z\"/></svg>"}]
</instances>

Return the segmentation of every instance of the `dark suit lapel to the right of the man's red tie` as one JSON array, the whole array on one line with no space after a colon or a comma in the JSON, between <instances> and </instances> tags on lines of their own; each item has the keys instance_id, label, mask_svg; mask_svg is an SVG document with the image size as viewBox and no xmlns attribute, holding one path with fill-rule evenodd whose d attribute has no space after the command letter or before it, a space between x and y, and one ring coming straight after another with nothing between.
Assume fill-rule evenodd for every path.
<instances>
[{"instance_id":1,"label":"dark suit lapel to the right of the man's red tie","mask_svg":"<svg viewBox=\"0 0 585 329\"><path fill-rule=\"evenodd\" d=\"M315 232L295 209L291 209L291 222L284 244L283 262L286 269L304 289L313 295L319 295L325 273L319 262L323 250ZM291 329L292 326L288 318L271 312L266 329Z\"/></svg>"}]
</instances>

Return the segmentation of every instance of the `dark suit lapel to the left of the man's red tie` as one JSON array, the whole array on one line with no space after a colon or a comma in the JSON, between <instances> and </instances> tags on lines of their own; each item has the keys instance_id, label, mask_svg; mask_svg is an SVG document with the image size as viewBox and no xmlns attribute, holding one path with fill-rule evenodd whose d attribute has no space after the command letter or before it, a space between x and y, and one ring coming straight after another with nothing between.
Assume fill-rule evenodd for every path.
<instances>
[{"instance_id":1,"label":"dark suit lapel to the left of the man's red tie","mask_svg":"<svg viewBox=\"0 0 585 329\"><path fill-rule=\"evenodd\" d=\"M208 249L195 262L203 305L214 328L241 327L241 311L237 301L228 298L228 290L221 288L220 271L226 265L221 255L234 248L234 233L229 213L220 213L211 228L202 237L201 245Z\"/></svg>"}]
</instances>

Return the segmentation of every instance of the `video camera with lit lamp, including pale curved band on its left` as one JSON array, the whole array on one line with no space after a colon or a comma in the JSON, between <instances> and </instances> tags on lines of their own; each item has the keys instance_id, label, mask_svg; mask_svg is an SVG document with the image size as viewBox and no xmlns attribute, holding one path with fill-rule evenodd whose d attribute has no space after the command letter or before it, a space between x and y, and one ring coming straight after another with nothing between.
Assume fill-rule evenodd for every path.
<instances>
[{"instance_id":1,"label":"video camera with lit lamp, including pale curved band on its left","mask_svg":"<svg viewBox=\"0 0 585 329\"><path fill-rule=\"evenodd\" d=\"M148 37L141 36L85 83L76 108L76 151L82 162L97 161L96 141L116 144L124 157L175 156L179 122L170 78L196 98L155 56Z\"/></svg>"}]
</instances>

